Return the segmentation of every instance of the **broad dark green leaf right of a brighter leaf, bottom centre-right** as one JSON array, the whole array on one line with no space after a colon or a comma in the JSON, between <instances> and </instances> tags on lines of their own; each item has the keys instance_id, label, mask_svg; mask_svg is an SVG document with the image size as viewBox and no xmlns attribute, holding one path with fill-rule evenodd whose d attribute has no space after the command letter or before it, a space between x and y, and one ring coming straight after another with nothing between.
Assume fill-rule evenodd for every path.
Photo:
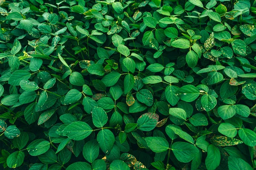
<instances>
[{"instance_id":1,"label":"broad dark green leaf right of a brighter leaf, bottom centre-right","mask_svg":"<svg viewBox=\"0 0 256 170\"><path fill-rule=\"evenodd\" d=\"M172 144L172 152L178 161L188 163L194 159L199 150L192 144L175 142Z\"/></svg>"}]
</instances>

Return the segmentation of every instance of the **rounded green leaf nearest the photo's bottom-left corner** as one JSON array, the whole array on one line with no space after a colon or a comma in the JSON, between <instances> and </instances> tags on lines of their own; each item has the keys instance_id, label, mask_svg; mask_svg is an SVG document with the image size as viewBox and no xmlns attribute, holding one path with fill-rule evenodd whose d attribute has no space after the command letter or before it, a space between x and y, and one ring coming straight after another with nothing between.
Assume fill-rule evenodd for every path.
<instances>
[{"instance_id":1,"label":"rounded green leaf nearest the photo's bottom-left corner","mask_svg":"<svg viewBox=\"0 0 256 170\"><path fill-rule=\"evenodd\" d=\"M25 153L22 151L16 151L8 156L6 162L8 167L16 168L19 167L24 161Z\"/></svg>"}]
</instances>

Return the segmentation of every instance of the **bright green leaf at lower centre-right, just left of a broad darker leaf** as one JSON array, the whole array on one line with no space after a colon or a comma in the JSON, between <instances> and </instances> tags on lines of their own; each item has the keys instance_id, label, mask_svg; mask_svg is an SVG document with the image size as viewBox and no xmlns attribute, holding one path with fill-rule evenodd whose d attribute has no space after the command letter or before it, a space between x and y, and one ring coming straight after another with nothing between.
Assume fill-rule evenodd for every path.
<instances>
[{"instance_id":1,"label":"bright green leaf at lower centre-right, just left of a broad darker leaf","mask_svg":"<svg viewBox=\"0 0 256 170\"><path fill-rule=\"evenodd\" d=\"M164 152L169 149L169 143L164 138L147 137L145 140L148 144L148 147L155 153Z\"/></svg>"}]
</instances>

